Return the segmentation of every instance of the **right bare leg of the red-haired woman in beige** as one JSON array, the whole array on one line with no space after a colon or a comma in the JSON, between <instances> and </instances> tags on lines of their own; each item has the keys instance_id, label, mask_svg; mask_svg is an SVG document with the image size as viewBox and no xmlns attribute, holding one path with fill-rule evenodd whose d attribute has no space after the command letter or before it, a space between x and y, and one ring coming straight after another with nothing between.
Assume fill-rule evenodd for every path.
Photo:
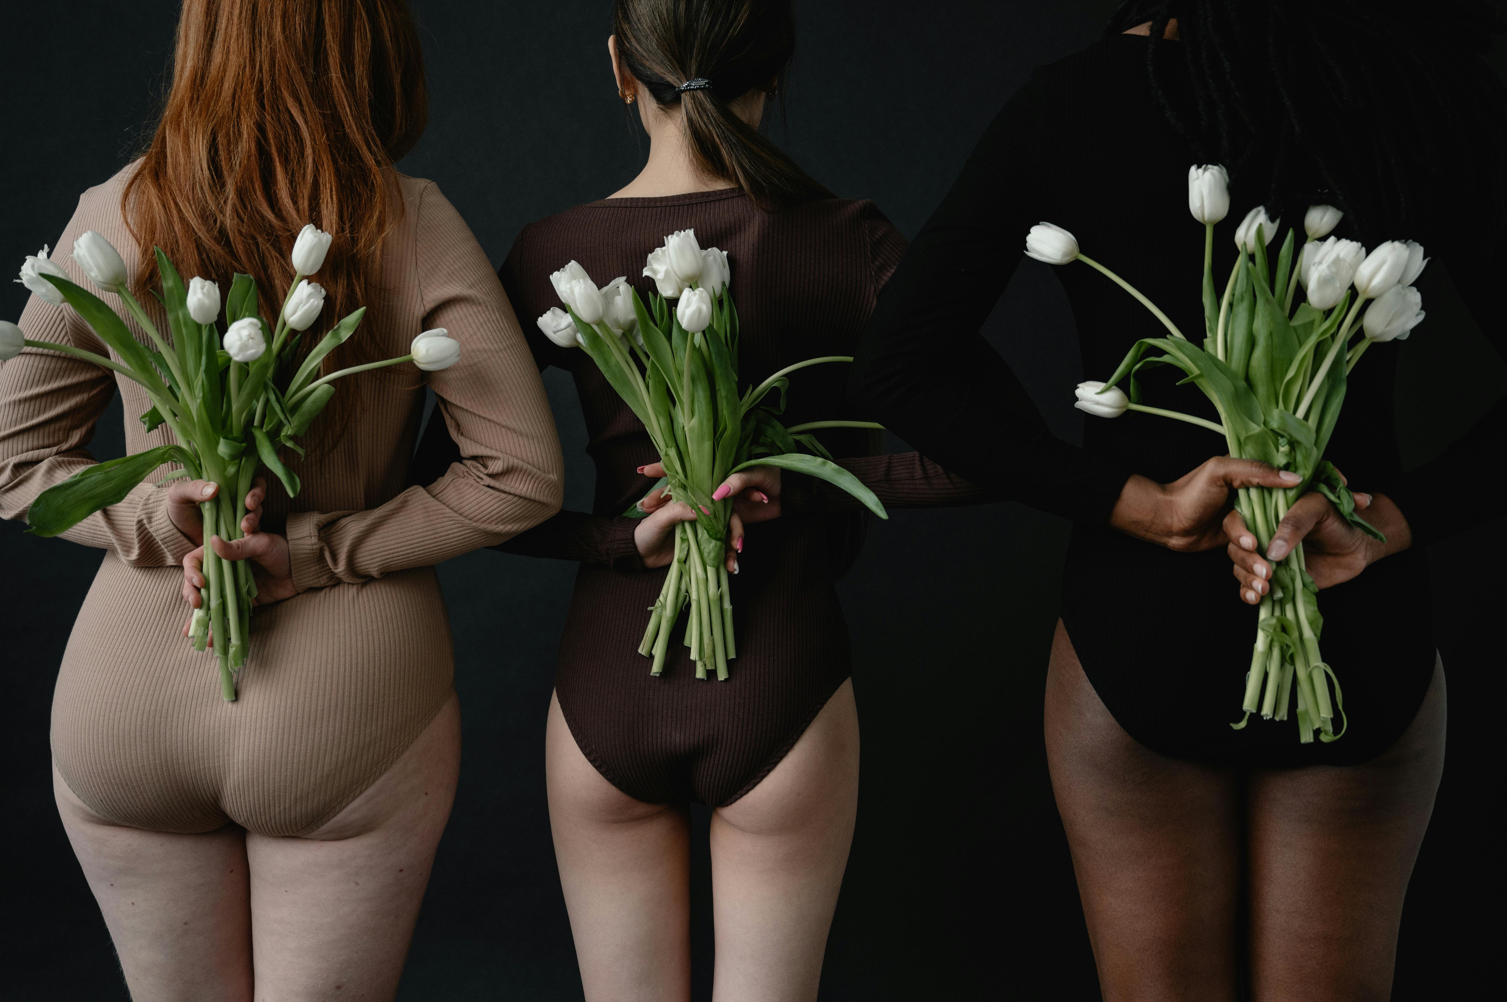
<instances>
[{"instance_id":1,"label":"right bare leg of the red-haired woman in beige","mask_svg":"<svg viewBox=\"0 0 1507 1002\"><path fill-rule=\"evenodd\" d=\"M392 999L460 773L455 696L307 838L249 833L256 997Z\"/></svg>"}]
</instances>

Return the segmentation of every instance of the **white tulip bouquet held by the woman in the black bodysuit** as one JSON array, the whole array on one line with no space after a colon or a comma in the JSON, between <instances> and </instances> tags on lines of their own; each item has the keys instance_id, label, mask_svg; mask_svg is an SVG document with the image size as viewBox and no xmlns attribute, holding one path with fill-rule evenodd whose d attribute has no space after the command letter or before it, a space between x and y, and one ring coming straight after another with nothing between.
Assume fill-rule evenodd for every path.
<instances>
[{"instance_id":1,"label":"white tulip bouquet held by the woman in the black bodysuit","mask_svg":"<svg viewBox=\"0 0 1507 1002\"><path fill-rule=\"evenodd\" d=\"M1230 209L1224 167L1191 167L1188 203L1194 218L1204 225L1203 347L1185 338L1120 276L1079 253L1071 234L1049 223L1031 229L1028 255L1049 264L1076 259L1097 268L1145 304L1171 333L1138 341L1106 383L1079 384L1078 407L1100 417L1138 410L1186 420L1224 435L1231 457L1261 460L1301 476L1299 484L1285 490L1239 491L1236 506L1263 550L1305 491L1320 491L1356 529L1382 539L1355 512L1353 496L1323 454L1340 420L1350 369L1373 344L1402 341L1423 321L1423 300L1412 288L1427 264L1423 247L1388 241L1367 253L1355 241L1329 237L1341 212L1316 205L1304 218L1308 241L1298 249L1296 229L1290 228L1273 267L1267 246L1279 220L1269 218L1258 206L1236 232L1234 268L1221 297L1213 273L1213 228ZM1352 344L1356 335L1361 338ZM1218 420L1144 405L1136 372L1150 365L1171 365L1188 374L1186 381L1215 405ZM1115 386L1126 378L1129 393ZM1319 589L1308 576L1299 542L1276 565L1272 588L1261 598L1245 680L1245 716L1231 726L1243 728L1252 713L1285 720L1296 696L1301 741L1310 743L1316 734L1320 741L1332 741L1344 734L1340 683L1319 651L1322 630Z\"/></svg>"}]
</instances>

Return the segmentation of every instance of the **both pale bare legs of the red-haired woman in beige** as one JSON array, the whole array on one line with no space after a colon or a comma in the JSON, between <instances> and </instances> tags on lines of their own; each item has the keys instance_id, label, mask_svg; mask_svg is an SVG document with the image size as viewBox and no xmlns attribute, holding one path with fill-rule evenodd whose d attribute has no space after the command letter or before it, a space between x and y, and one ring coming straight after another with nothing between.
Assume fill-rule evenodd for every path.
<instances>
[{"instance_id":1,"label":"both pale bare legs of the red-haired woman in beige","mask_svg":"<svg viewBox=\"0 0 1507 1002\"><path fill-rule=\"evenodd\" d=\"M392 999L460 773L451 701L381 779L304 838L124 827L53 770L57 809L152 1002Z\"/></svg>"}]
</instances>

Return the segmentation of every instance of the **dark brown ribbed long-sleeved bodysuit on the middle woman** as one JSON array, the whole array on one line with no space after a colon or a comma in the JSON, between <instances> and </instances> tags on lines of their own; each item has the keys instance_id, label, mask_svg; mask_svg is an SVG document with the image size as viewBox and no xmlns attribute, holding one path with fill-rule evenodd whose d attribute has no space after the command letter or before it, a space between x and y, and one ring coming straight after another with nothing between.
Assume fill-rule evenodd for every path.
<instances>
[{"instance_id":1,"label":"dark brown ribbed long-sleeved bodysuit on the middle woman","mask_svg":"<svg viewBox=\"0 0 1507 1002\"><path fill-rule=\"evenodd\" d=\"M607 199L526 228L503 265L503 285L524 322L558 304L549 276L571 259L598 283L621 274L647 294L653 283L642 277L643 259L678 229L695 229L702 247L728 252L741 319L741 383L814 356L851 354L904 250L900 234L868 202L826 200L766 214L732 190ZM556 674L571 734L603 776L639 800L731 803L779 762L848 677L848 636L833 582L851 564L862 517L842 502L832 506L848 511L827 514L826 496L808 490L809 503L791 503L785 517L749 526L741 574L732 579L731 678L698 681L680 633L665 674L650 677L637 646L666 571L639 570L634 523L619 515L650 488L634 470L657 458L654 446L585 353L527 333L541 368L558 365L574 375L597 464L595 514L562 512L500 547L583 561ZM784 420L862 419L844 404L845 369L796 372ZM867 432L821 437L835 455L868 452ZM915 455L851 463L877 481L895 475L900 485L880 490L906 496L906 503L978 494ZM918 482L925 488L915 490Z\"/></svg>"}]
</instances>

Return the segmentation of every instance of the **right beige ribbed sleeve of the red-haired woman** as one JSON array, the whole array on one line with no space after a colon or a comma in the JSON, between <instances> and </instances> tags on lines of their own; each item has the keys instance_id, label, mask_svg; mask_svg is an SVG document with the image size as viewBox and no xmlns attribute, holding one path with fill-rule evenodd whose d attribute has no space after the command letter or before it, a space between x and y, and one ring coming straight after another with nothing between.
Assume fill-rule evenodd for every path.
<instances>
[{"instance_id":1,"label":"right beige ribbed sleeve of the red-haired woman","mask_svg":"<svg viewBox=\"0 0 1507 1002\"><path fill-rule=\"evenodd\" d=\"M360 512L288 518L301 589L357 583L493 545L553 515L562 460L549 401L491 264L460 214L426 185L417 212L411 280L423 327L461 342L460 363L429 386L463 460L426 487Z\"/></svg>"}]
</instances>

